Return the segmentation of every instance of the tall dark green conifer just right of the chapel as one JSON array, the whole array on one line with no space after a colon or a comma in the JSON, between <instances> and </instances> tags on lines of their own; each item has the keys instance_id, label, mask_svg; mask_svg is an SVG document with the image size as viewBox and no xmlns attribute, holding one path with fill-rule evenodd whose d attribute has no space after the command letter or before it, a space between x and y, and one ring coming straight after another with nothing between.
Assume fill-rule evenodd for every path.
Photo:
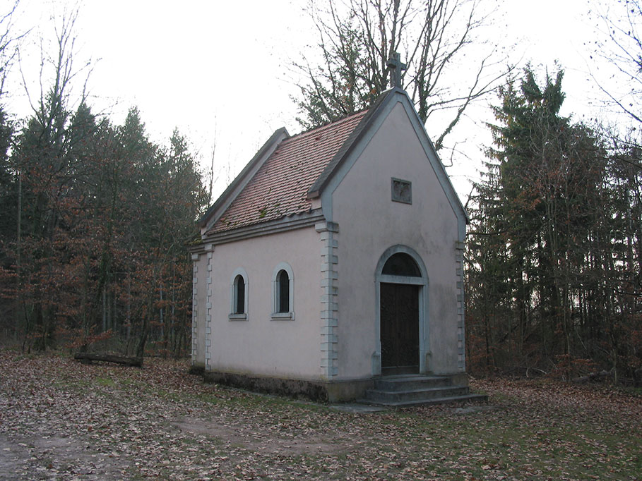
<instances>
[{"instance_id":1,"label":"tall dark green conifer just right of the chapel","mask_svg":"<svg viewBox=\"0 0 642 481\"><path fill-rule=\"evenodd\" d=\"M514 83L501 89L471 233L472 245L491 247L485 255L470 252L469 269L471 298L487 301L480 289L493 286L501 298L492 302L509 307L492 348L510 362L547 370L585 355L576 336L578 292L607 167L593 131L559 116L562 77L547 75L540 87L527 68L519 89ZM497 289L497 279L506 288Z\"/></svg>"}]
</instances>

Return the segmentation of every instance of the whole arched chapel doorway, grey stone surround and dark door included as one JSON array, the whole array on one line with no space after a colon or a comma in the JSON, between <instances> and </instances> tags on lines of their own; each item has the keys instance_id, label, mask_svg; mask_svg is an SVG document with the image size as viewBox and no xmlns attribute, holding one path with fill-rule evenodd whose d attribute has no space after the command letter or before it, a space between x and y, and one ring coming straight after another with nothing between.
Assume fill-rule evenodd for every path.
<instances>
[{"instance_id":1,"label":"whole arched chapel doorway, grey stone surround and dark door included","mask_svg":"<svg viewBox=\"0 0 642 481\"><path fill-rule=\"evenodd\" d=\"M427 371L427 286L424 264L411 248L393 246L379 259L374 375Z\"/></svg>"}]
</instances>

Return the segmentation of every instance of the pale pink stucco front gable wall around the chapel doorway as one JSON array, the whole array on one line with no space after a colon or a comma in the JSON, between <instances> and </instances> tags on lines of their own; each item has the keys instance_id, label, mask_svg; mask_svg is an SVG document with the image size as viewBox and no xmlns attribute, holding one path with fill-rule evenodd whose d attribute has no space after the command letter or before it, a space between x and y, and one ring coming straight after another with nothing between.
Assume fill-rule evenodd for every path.
<instances>
[{"instance_id":1,"label":"pale pink stucco front gable wall around the chapel doorway","mask_svg":"<svg viewBox=\"0 0 642 481\"><path fill-rule=\"evenodd\" d=\"M391 178L412 182L412 205L391 201ZM403 106L396 104L332 194L338 223L338 378L371 375L375 270L393 245L415 250L429 277L429 370L457 372L458 221Z\"/></svg>"}]
</instances>

